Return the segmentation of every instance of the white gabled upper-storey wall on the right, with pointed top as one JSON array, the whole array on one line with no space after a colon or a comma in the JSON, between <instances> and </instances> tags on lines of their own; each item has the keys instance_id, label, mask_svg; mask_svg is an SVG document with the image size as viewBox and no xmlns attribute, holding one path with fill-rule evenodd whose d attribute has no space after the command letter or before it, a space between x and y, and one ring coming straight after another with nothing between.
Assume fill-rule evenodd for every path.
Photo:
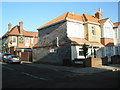
<instances>
[{"instance_id":1,"label":"white gabled upper-storey wall on the right, with pointed top","mask_svg":"<svg viewBox=\"0 0 120 90\"><path fill-rule=\"evenodd\" d=\"M103 38L114 38L113 24L110 20L107 20L103 25Z\"/></svg>"}]
</instances>

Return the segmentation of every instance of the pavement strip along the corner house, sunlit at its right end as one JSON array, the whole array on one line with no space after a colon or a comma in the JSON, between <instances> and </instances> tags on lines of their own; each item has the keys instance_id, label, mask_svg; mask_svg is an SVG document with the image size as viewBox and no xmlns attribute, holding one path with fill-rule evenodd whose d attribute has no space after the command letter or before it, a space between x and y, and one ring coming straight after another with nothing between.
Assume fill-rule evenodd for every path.
<instances>
[{"instance_id":1,"label":"pavement strip along the corner house, sunlit at its right end","mask_svg":"<svg viewBox=\"0 0 120 90\"><path fill-rule=\"evenodd\" d=\"M74 67L74 66L57 66L50 64L40 64L40 63L31 63L31 62L22 62L22 64L26 64L33 67L42 67L47 69L54 69L55 71L63 71L63 72L73 72L80 75L91 75L94 73L106 72L106 71L120 71L120 64L109 64L102 65L97 67Z\"/></svg>"}]
</instances>

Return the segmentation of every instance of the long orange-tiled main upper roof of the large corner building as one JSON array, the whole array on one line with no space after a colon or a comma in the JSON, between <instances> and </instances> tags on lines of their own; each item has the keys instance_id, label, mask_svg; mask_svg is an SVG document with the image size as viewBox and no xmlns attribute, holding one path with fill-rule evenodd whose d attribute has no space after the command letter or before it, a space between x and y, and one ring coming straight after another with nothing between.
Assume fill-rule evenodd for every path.
<instances>
[{"instance_id":1,"label":"long orange-tiled main upper roof of the large corner building","mask_svg":"<svg viewBox=\"0 0 120 90\"><path fill-rule=\"evenodd\" d=\"M72 20L77 20L77 21L81 21L81 22L89 21L89 22L101 24L101 23L105 23L109 18L99 20L98 18L96 18L95 16L92 16L92 15L88 15L88 14L78 15L78 14L75 14L72 12L67 12L67 13L57 17L56 19L46 23L45 25L38 27L38 30L41 28L44 28L46 26L60 22L62 20L66 20L66 19L72 19Z\"/></svg>"}]
</instances>

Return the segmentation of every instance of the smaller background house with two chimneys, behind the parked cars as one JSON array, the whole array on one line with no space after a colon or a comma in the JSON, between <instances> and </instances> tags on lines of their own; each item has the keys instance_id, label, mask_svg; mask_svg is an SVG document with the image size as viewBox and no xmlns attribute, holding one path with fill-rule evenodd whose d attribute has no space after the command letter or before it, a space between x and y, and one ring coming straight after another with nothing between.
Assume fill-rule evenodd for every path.
<instances>
[{"instance_id":1,"label":"smaller background house with two chimneys, behind the parked cars","mask_svg":"<svg viewBox=\"0 0 120 90\"><path fill-rule=\"evenodd\" d=\"M2 36L3 52L19 55L22 60L32 60L32 47L38 41L38 32L25 31L23 22L12 28L12 24L8 24L8 31Z\"/></svg>"}]
</instances>

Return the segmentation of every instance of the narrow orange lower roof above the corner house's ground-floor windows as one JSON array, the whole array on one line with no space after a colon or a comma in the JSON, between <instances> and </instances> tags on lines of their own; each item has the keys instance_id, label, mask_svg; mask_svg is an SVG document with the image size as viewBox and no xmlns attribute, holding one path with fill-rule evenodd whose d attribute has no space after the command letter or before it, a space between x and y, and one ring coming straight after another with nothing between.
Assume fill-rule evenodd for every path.
<instances>
[{"instance_id":1,"label":"narrow orange lower roof above the corner house's ground-floor windows","mask_svg":"<svg viewBox=\"0 0 120 90\"><path fill-rule=\"evenodd\" d=\"M104 45L101 44L101 43L89 42L89 41L87 41L86 39L83 39L83 38L69 38L69 39L70 39L72 42L74 42L74 43L81 43L81 44L86 43L86 44L93 45L93 46L104 46Z\"/></svg>"}]
</instances>

